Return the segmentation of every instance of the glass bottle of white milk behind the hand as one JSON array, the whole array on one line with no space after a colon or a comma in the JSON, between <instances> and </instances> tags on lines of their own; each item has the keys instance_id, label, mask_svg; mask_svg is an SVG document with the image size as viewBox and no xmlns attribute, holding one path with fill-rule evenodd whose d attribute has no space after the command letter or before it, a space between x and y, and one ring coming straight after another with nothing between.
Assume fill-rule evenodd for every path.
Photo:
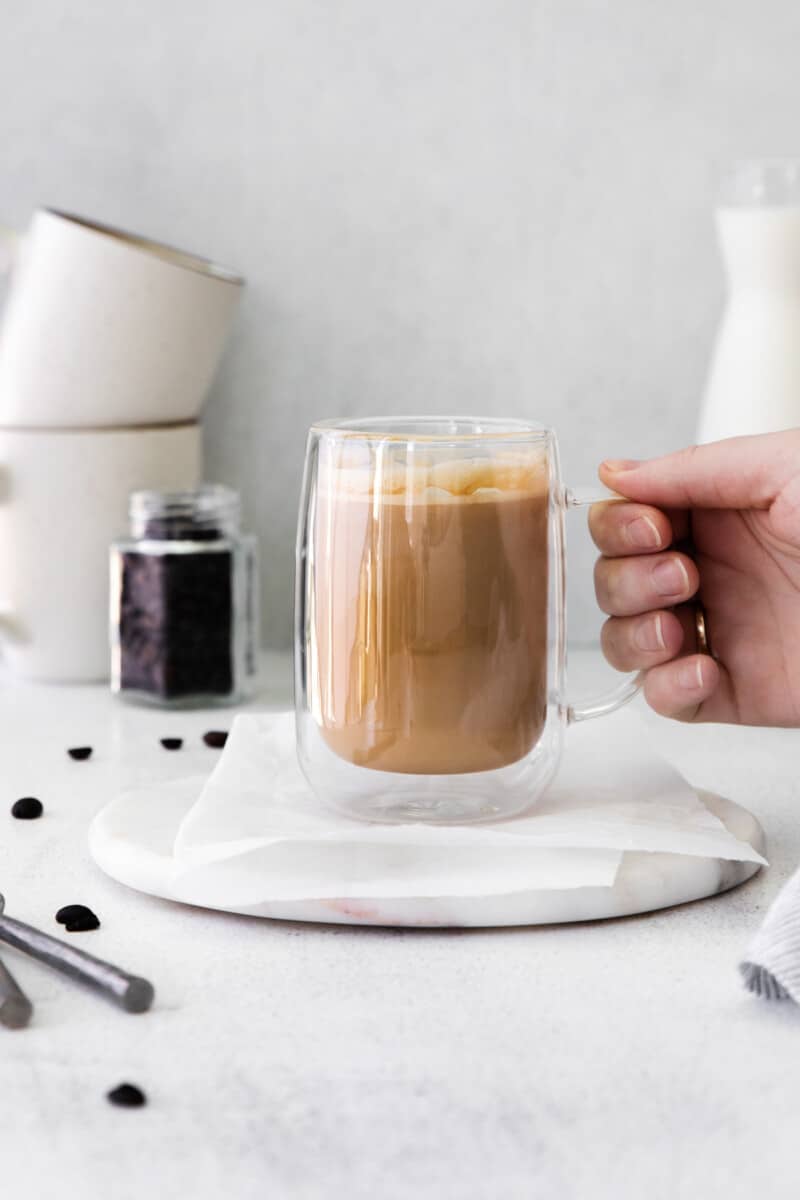
<instances>
[{"instance_id":1,"label":"glass bottle of white milk behind the hand","mask_svg":"<svg viewBox=\"0 0 800 1200\"><path fill-rule=\"evenodd\" d=\"M698 442L800 425L800 160L739 163L716 224L729 295Z\"/></svg>"}]
</instances>

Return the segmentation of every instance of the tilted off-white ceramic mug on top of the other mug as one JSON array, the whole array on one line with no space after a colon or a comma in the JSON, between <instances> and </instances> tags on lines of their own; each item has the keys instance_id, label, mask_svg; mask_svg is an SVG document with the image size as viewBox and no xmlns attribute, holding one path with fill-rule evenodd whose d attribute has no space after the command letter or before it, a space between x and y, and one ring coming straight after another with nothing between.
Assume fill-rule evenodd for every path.
<instances>
[{"instance_id":1,"label":"tilted off-white ceramic mug on top of the other mug","mask_svg":"<svg viewBox=\"0 0 800 1200\"><path fill-rule=\"evenodd\" d=\"M35 214L12 258L0 325L0 426L197 419L240 276L50 209Z\"/></svg>"}]
</instances>

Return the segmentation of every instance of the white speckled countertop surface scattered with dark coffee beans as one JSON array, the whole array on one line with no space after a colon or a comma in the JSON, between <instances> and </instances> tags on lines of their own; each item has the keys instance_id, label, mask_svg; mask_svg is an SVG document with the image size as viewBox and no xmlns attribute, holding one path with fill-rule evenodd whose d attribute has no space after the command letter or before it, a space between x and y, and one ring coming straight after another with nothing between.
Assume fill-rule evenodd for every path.
<instances>
[{"instance_id":1,"label":"white speckled countertop surface scattered with dark coffee beans","mask_svg":"<svg viewBox=\"0 0 800 1200\"><path fill-rule=\"evenodd\" d=\"M581 655L587 677L596 659ZM288 696L285 660L269 695ZM642 712L645 712L642 708ZM736 961L800 863L800 731L648 718L696 784L751 808L769 870L652 916L519 930L311 926L181 908L89 859L120 785L187 773L229 710L128 708L102 688L0 684L10 916L157 988L130 1016L13 950L36 1004L0 1028L4 1194L32 1200L738 1200L800 1187L800 1010ZM186 738L176 754L161 737ZM70 745L91 744L72 762ZM19 796L44 804L14 821ZM102 920L64 935L54 913ZM1 948L0 948L1 949ZM139 1084L143 1110L106 1092Z\"/></svg>"}]
</instances>

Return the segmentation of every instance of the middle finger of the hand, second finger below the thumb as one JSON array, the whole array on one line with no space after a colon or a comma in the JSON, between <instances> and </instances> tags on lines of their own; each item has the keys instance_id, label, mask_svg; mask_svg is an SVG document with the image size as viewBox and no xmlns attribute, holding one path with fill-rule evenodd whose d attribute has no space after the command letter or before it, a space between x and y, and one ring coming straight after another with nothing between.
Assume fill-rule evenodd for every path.
<instances>
[{"instance_id":1,"label":"middle finger of the hand, second finger below the thumb","mask_svg":"<svg viewBox=\"0 0 800 1200\"><path fill-rule=\"evenodd\" d=\"M697 566L686 554L599 558L597 604L609 617L634 617L690 600L699 586Z\"/></svg>"}]
</instances>

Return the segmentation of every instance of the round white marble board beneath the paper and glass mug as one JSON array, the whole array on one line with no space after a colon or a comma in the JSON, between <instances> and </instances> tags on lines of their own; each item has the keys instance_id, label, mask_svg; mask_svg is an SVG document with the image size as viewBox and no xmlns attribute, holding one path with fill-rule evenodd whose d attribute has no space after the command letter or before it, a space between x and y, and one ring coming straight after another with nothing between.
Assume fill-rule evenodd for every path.
<instances>
[{"instance_id":1,"label":"round white marble board beneath the paper and glass mug","mask_svg":"<svg viewBox=\"0 0 800 1200\"><path fill-rule=\"evenodd\" d=\"M727 829L764 853L756 817L732 800L698 792ZM92 822L89 848L112 878L150 895L253 917L348 925L494 926L600 920L652 912L727 892L751 878L758 863L688 854L628 851L610 888L527 890L491 896L420 896L359 900L284 900L252 907L209 904L192 871L173 858L175 834L193 799L169 792L137 792L107 805Z\"/></svg>"}]
</instances>

